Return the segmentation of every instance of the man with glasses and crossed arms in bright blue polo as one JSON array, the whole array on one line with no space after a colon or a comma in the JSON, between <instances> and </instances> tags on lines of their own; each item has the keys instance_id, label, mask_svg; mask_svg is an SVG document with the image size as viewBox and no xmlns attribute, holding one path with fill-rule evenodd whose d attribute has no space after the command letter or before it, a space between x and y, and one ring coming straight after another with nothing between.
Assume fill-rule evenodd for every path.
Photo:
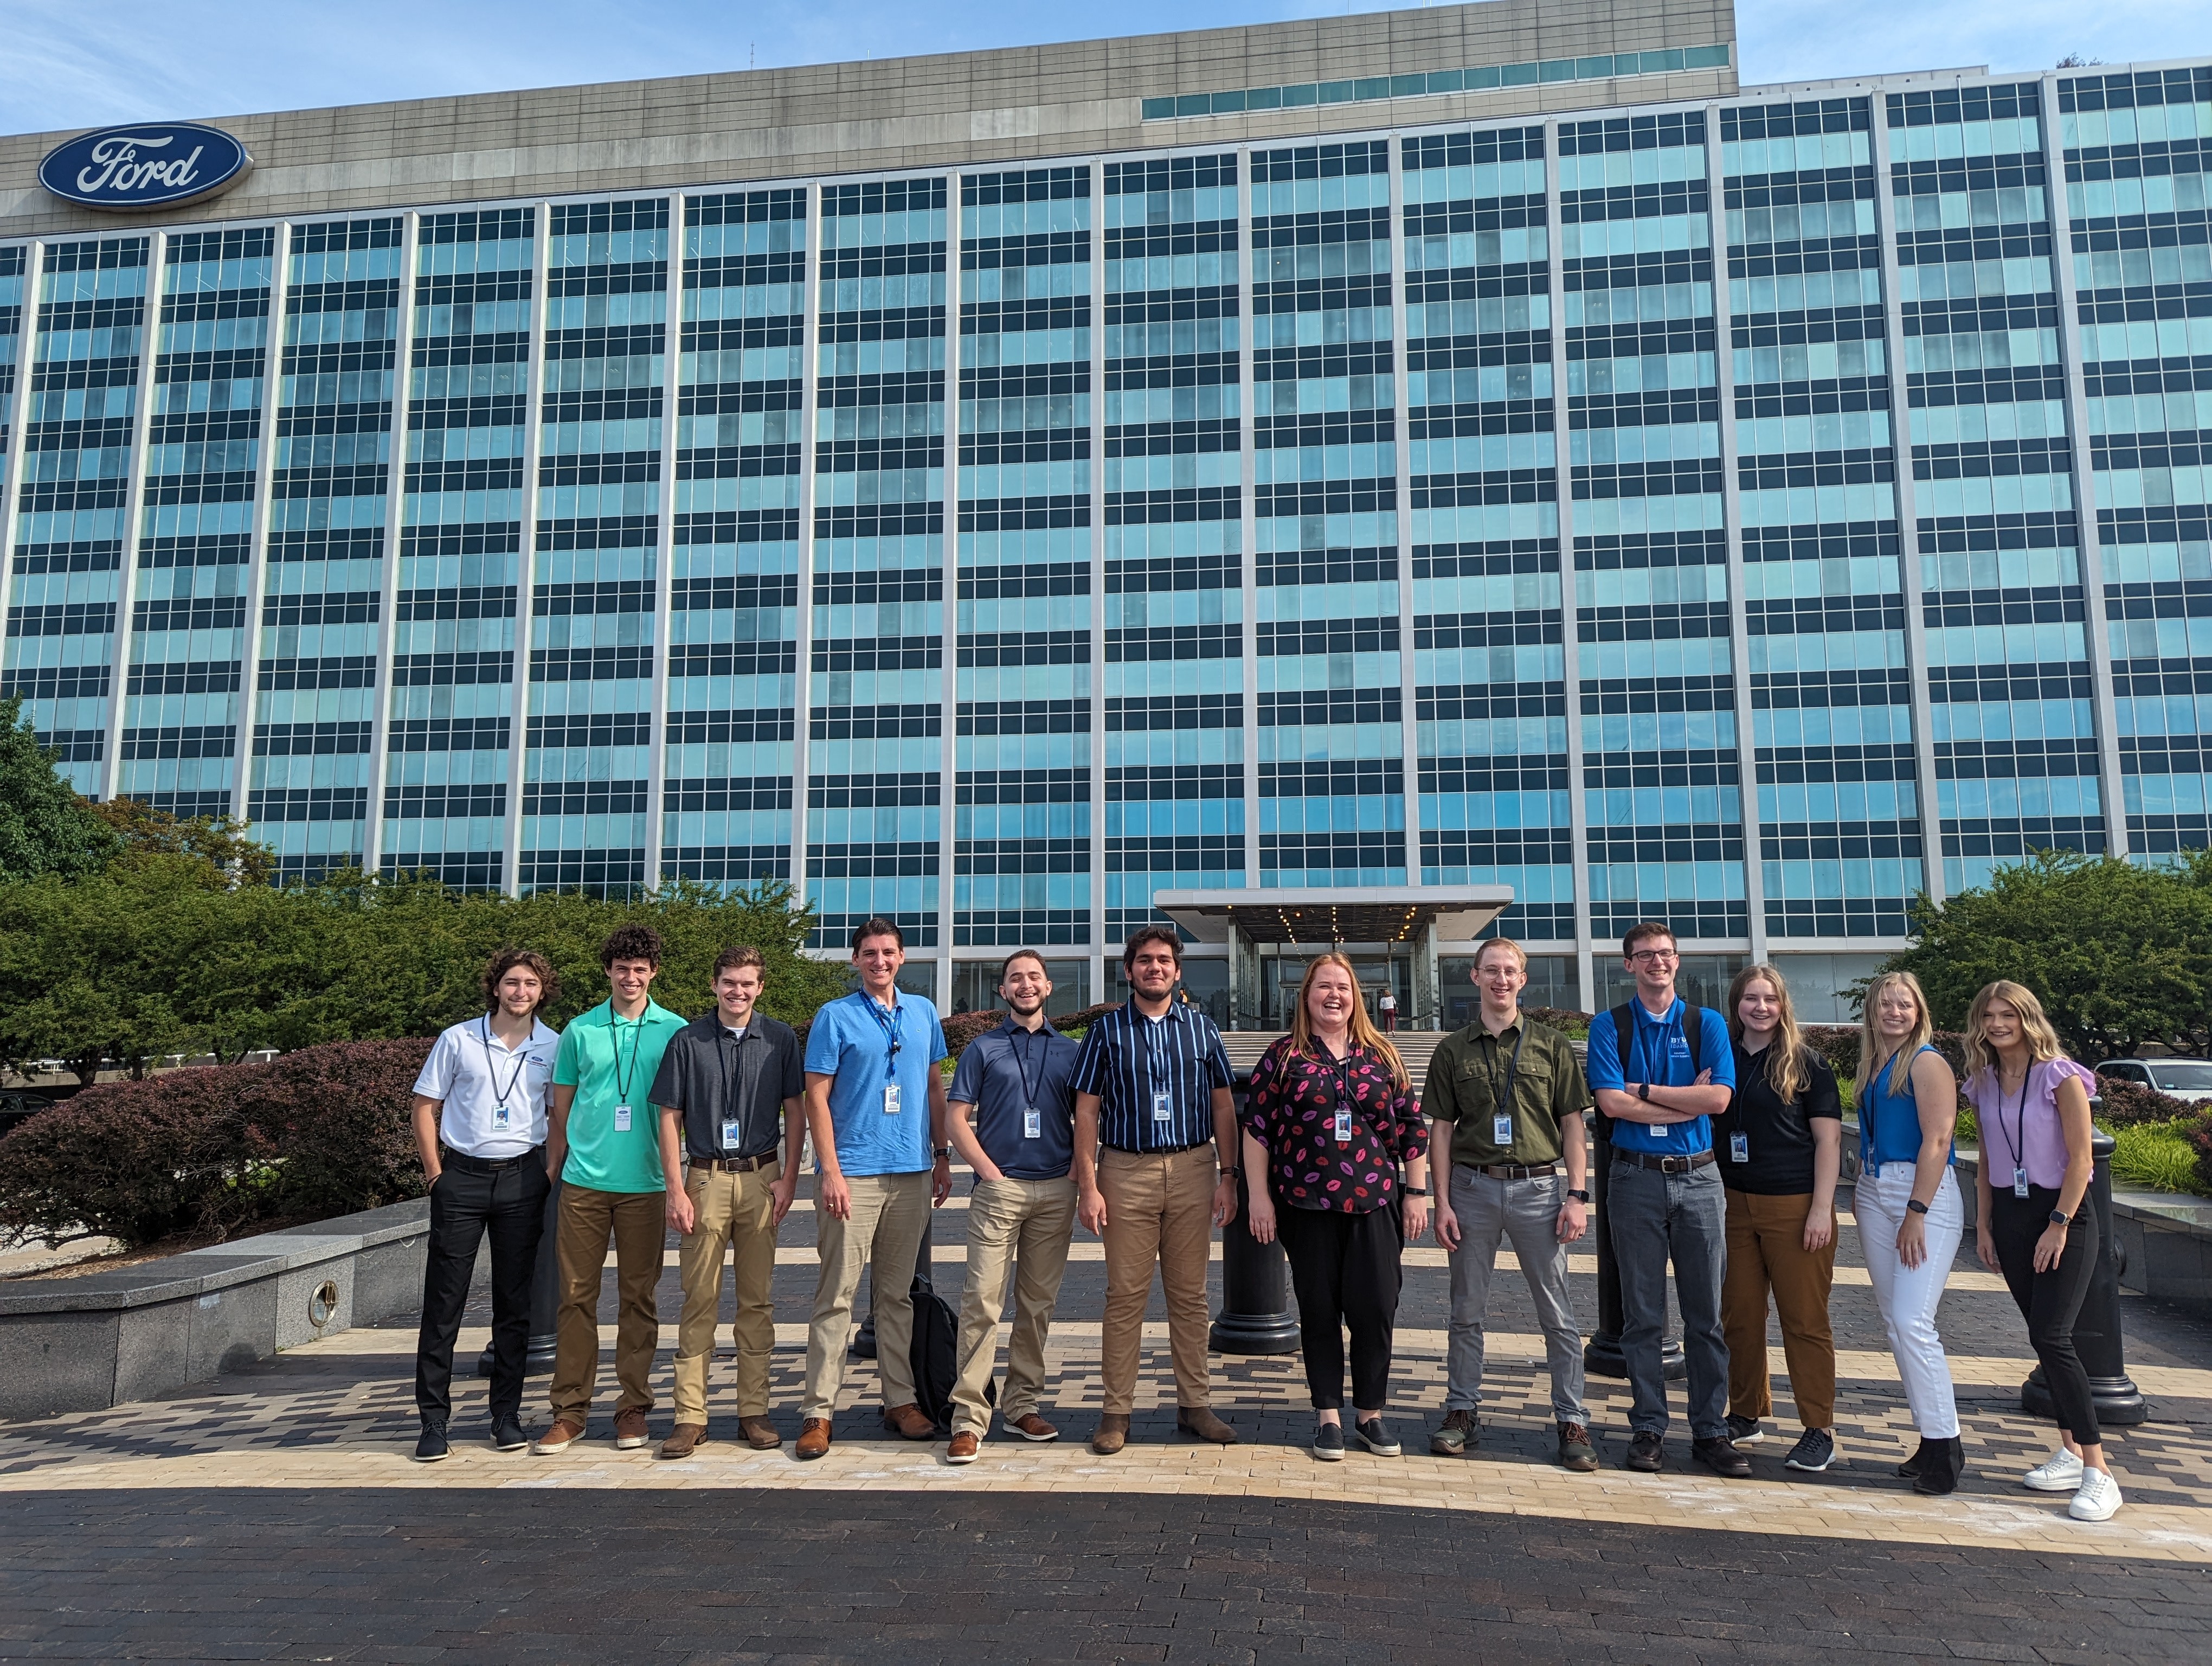
<instances>
[{"instance_id":1,"label":"man with glasses and crossed arms in bright blue polo","mask_svg":"<svg viewBox=\"0 0 2212 1666\"><path fill-rule=\"evenodd\" d=\"M1666 1266L1674 1261L1681 1350L1690 1363L1690 1451L1721 1476L1750 1476L1728 1440L1728 1343L1721 1270L1728 1204L1712 1157L1712 1117L1736 1086L1728 1024L1674 996L1674 931L1632 925L1621 956L1635 1000L1590 1020L1588 1080L1613 1120L1604 1228L1621 1274L1621 1356L1628 1363L1628 1469L1657 1474L1666 1456Z\"/></svg>"}]
</instances>

